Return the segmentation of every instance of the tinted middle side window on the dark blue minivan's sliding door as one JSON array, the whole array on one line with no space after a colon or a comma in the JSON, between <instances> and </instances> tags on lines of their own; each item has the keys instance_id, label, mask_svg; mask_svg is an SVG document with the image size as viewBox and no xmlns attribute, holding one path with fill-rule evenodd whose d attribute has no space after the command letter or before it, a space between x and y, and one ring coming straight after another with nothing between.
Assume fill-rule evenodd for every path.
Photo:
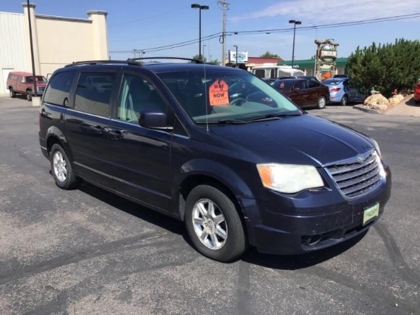
<instances>
[{"instance_id":1,"label":"tinted middle side window on the dark blue minivan's sliding door","mask_svg":"<svg viewBox=\"0 0 420 315\"><path fill-rule=\"evenodd\" d=\"M76 89L74 109L109 117L111 92L115 81L112 73L81 73Z\"/></svg>"}]
</instances>

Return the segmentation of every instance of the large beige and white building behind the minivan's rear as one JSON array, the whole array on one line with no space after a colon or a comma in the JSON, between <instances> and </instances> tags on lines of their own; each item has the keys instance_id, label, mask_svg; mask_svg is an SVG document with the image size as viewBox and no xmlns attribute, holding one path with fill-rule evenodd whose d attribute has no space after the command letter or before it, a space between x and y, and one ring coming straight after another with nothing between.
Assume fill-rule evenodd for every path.
<instances>
[{"instance_id":1,"label":"large beige and white building behind the minivan's rear","mask_svg":"<svg viewBox=\"0 0 420 315\"><path fill-rule=\"evenodd\" d=\"M88 18L37 14L36 5L22 3L24 13L0 12L0 94L8 93L10 71L32 73L28 10L32 24L37 75L48 76L73 61L107 60L108 27L105 11L89 11Z\"/></svg>"}]
</instances>

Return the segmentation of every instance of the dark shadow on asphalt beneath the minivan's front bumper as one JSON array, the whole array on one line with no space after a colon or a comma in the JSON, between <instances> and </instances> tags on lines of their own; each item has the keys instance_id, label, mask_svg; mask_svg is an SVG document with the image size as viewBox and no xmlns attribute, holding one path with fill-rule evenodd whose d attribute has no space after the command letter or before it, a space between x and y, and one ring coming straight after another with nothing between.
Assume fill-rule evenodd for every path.
<instances>
[{"instance_id":1,"label":"dark shadow on asphalt beneath the minivan's front bumper","mask_svg":"<svg viewBox=\"0 0 420 315\"><path fill-rule=\"evenodd\" d=\"M363 239L366 233L367 231L332 247L300 255L262 254L257 252L257 249L251 247L244 257L242 257L242 260L250 264L272 269L297 270L308 268L346 252L346 250L350 249Z\"/></svg>"}]
</instances>

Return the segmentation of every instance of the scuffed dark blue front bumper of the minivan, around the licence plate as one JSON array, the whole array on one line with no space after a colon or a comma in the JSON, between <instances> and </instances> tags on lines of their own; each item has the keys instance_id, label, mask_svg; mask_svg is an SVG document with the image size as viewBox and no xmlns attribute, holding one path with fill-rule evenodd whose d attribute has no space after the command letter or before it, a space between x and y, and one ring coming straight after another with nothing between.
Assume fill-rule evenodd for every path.
<instances>
[{"instance_id":1,"label":"scuffed dark blue front bumper of the minivan, around the licence plate","mask_svg":"<svg viewBox=\"0 0 420 315\"><path fill-rule=\"evenodd\" d=\"M293 255L329 247L367 231L382 215L391 195L391 171L375 191L347 200L331 191L299 197L267 192L263 200L241 199L249 243L259 252ZM379 203L379 215L363 225L366 207Z\"/></svg>"}]
</instances>

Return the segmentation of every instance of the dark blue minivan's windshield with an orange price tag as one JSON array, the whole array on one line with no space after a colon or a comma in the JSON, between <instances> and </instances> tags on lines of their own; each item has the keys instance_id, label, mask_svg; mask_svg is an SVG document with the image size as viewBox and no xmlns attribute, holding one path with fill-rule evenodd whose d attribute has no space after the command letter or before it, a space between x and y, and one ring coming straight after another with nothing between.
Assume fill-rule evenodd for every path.
<instances>
[{"instance_id":1,"label":"dark blue minivan's windshield with an orange price tag","mask_svg":"<svg viewBox=\"0 0 420 315\"><path fill-rule=\"evenodd\" d=\"M157 75L196 123L302 113L286 97L247 71L210 69Z\"/></svg>"}]
</instances>

